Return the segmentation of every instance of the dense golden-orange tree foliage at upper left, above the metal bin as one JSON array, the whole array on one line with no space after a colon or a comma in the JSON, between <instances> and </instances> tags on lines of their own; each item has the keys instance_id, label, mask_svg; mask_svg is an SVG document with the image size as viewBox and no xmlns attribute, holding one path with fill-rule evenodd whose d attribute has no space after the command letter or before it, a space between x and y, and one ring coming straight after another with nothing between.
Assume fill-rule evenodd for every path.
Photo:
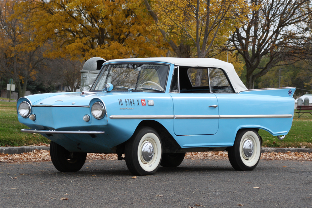
<instances>
[{"instance_id":1,"label":"dense golden-orange tree foliage at upper left, above the metal bin","mask_svg":"<svg viewBox=\"0 0 312 208\"><path fill-rule=\"evenodd\" d=\"M24 1L16 16L34 28L29 47L51 44L45 56L106 60L165 56L167 50L158 30L149 26L143 1Z\"/></svg>"}]
</instances>

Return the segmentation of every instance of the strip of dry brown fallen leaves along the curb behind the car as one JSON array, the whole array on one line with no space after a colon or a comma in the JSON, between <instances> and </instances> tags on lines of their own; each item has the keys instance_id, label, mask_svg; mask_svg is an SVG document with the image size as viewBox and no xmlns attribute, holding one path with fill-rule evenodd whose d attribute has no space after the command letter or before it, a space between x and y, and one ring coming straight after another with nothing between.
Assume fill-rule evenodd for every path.
<instances>
[{"instance_id":1,"label":"strip of dry brown fallen leaves along the curb behind the car","mask_svg":"<svg viewBox=\"0 0 312 208\"><path fill-rule=\"evenodd\" d=\"M124 156L123 156L124 157ZM117 160L117 154L95 154L88 153L87 160ZM227 152L188 152L185 159L217 159L228 160ZM308 160L312 161L312 153L306 152L265 152L261 154L263 160ZM51 161L50 151L33 150L32 152L22 154L0 154L0 162L40 162Z\"/></svg>"}]
</instances>

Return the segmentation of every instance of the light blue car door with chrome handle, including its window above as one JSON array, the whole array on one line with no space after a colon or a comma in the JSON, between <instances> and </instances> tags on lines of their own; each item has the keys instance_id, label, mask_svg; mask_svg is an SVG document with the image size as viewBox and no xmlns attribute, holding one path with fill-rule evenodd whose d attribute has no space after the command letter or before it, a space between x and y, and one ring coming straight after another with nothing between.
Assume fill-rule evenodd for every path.
<instances>
[{"instance_id":1,"label":"light blue car door with chrome handle, including its window above","mask_svg":"<svg viewBox=\"0 0 312 208\"><path fill-rule=\"evenodd\" d=\"M210 92L207 68L176 67L170 91L176 135L217 133L218 102Z\"/></svg>"}]
</instances>

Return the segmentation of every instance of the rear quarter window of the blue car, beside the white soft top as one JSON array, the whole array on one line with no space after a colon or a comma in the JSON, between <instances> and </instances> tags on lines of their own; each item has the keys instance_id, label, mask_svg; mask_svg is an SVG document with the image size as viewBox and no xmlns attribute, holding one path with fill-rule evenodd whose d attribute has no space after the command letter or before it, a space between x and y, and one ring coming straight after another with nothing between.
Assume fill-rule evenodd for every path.
<instances>
[{"instance_id":1,"label":"rear quarter window of the blue car, beside the white soft top","mask_svg":"<svg viewBox=\"0 0 312 208\"><path fill-rule=\"evenodd\" d=\"M213 93L234 93L221 69L209 68L210 88Z\"/></svg>"}]
</instances>

